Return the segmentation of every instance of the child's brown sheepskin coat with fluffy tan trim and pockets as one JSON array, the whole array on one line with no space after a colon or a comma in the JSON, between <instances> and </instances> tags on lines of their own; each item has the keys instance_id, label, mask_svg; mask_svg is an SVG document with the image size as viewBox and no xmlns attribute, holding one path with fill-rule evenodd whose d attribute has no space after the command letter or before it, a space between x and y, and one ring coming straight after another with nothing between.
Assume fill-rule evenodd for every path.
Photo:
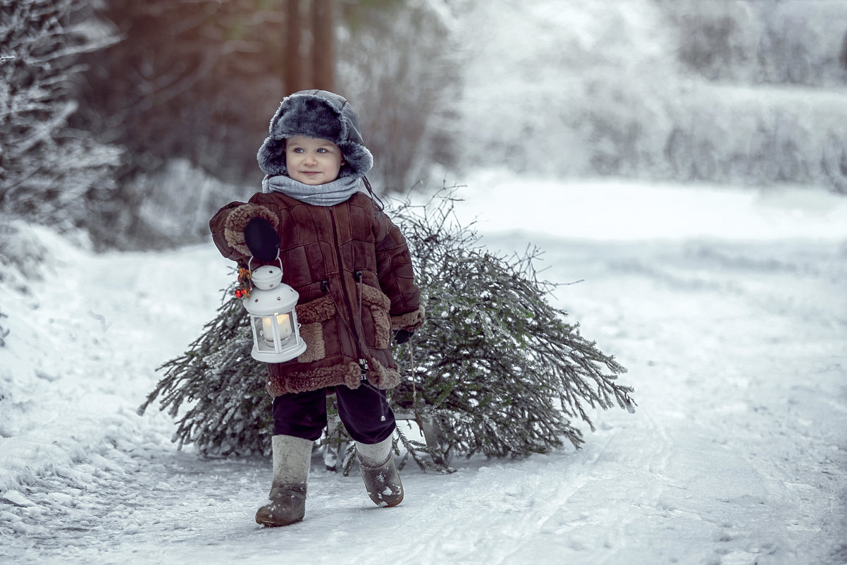
<instances>
[{"instance_id":1,"label":"child's brown sheepskin coat with fluffy tan trim and pockets","mask_svg":"<svg viewBox=\"0 0 847 565\"><path fill-rule=\"evenodd\" d=\"M294 288L297 321L307 350L285 363L268 363L274 396L339 384L368 382L390 389L400 382L391 356L392 330L424 322L406 239L365 193L334 206L304 204L281 193L232 202L209 222L224 257L246 266L244 227L254 217L276 227L283 282ZM253 260L252 267L258 266Z\"/></svg>"}]
</instances>

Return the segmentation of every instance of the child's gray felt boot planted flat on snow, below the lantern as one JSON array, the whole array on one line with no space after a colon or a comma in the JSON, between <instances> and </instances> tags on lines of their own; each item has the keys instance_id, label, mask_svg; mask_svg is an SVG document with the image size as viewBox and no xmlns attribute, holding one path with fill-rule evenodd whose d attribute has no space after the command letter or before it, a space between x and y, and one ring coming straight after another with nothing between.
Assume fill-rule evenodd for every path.
<instances>
[{"instance_id":1,"label":"child's gray felt boot planted flat on snow, below the lantern","mask_svg":"<svg viewBox=\"0 0 847 565\"><path fill-rule=\"evenodd\" d=\"M263 526L287 526L300 522L306 514L306 482L312 459L311 439L291 435L274 435L274 481L271 484L270 504L256 512L256 523Z\"/></svg>"}]
</instances>

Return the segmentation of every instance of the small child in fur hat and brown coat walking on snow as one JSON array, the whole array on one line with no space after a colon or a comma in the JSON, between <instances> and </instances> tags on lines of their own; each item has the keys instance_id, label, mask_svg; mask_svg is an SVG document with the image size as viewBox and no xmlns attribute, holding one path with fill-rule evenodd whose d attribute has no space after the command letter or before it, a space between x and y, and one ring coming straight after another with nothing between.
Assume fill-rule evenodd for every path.
<instances>
[{"instance_id":1,"label":"small child in fur hat and brown coat walking on snow","mask_svg":"<svg viewBox=\"0 0 847 565\"><path fill-rule=\"evenodd\" d=\"M257 523L302 520L313 442L326 426L326 395L356 442L368 495L396 506L403 487L391 453L394 414L385 390L400 382L390 353L424 322L406 240L368 193L374 159L345 98L319 90L280 103L258 152L262 192L209 222L215 245L239 266L279 265L300 294L307 350L268 363L274 396L274 478Z\"/></svg>"}]
</instances>

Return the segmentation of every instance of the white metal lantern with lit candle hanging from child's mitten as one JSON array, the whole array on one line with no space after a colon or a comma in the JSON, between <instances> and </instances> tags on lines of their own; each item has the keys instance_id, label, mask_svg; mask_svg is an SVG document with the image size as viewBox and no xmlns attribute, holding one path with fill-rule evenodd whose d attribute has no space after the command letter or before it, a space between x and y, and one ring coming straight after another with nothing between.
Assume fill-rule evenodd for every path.
<instances>
[{"instance_id":1,"label":"white metal lantern with lit candle hanging from child's mitten","mask_svg":"<svg viewBox=\"0 0 847 565\"><path fill-rule=\"evenodd\" d=\"M261 266L252 271L255 288L241 299L250 314L253 328L253 350L257 361L282 363L306 350L300 337L296 305L300 295L282 282L282 265Z\"/></svg>"}]
</instances>

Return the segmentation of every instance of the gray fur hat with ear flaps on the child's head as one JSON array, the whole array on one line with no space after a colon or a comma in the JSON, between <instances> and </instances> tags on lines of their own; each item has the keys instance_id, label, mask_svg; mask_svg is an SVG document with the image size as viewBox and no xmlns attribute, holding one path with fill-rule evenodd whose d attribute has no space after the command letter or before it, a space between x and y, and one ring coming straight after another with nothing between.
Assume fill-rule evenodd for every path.
<instances>
[{"instance_id":1,"label":"gray fur hat with ear flaps on the child's head","mask_svg":"<svg viewBox=\"0 0 847 565\"><path fill-rule=\"evenodd\" d=\"M325 90L303 90L285 97L270 120L270 136L259 148L259 168L266 175L288 175L285 138L329 139L341 148L344 165L339 177L361 177L374 165L374 156L362 141L356 110L346 99Z\"/></svg>"}]
</instances>

